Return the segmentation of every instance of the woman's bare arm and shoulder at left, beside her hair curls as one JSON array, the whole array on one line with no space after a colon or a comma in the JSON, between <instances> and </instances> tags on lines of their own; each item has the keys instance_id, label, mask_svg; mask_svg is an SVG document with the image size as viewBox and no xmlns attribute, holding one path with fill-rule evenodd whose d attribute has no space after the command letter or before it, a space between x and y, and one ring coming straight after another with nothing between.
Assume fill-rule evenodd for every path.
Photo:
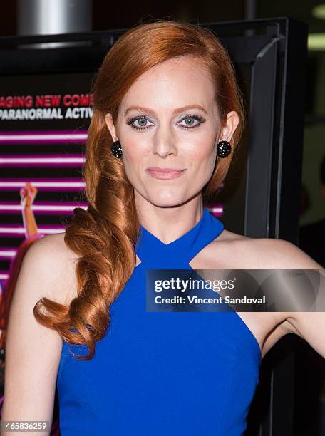
<instances>
[{"instance_id":1,"label":"woman's bare arm and shoulder at left, beside her hair curls","mask_svg":"<svg viewBox=\"0 0 325 436\"><path fill-rule=\"evenodd\" d=\"M1 416L5 421L48 420L50 429L62 340L56 331L37 323L33 307L43 296L53 299L55 289L62 289L58 278L63 256L51 236L38 239L27 251L11 301ZM19 432L34 434L49 435L49 430Z\"/></svg>"}]
</instances>

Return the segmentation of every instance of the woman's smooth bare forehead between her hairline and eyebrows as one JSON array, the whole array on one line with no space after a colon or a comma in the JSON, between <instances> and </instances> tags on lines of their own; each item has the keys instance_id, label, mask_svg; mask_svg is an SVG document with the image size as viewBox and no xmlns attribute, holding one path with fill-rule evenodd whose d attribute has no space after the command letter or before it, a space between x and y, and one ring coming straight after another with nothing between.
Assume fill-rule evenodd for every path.
<instances>
[{"instance_id":1,"label":"woman's smooth bare forehead between her hairline and eyebrows","mask_svg":"<svg viewBox=\"0 0 325 436\"><path fill-rule=\"evenodd\" d=\"M145 71L125 94L121 108L143 105L156 110L197 103L211 107L215 85L210 71L191 56L168 59Z\"/></svg>"}]
</instances>

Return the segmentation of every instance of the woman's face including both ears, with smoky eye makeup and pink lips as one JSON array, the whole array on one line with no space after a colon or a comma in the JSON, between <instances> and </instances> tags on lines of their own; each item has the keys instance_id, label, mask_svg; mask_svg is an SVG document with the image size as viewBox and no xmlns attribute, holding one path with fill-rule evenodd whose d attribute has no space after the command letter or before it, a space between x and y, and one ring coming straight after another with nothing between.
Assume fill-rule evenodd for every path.
<instances>
[{"instance_id":1,"label":"woman's face including both ears, with smoky eye makeup and pink lips","mask_svg":"<svg viewBox=\"0 0 325 436\"><path fill-rule=\"evenodd\" d=\"M214 95L209 71L182 56L150 68L133 83L115 125L106 116L137 200L172 207L200 194L215 168L218 140L229 140L238 123L237 113L229 113L218 137ZM153 168L180 172L163 175Z\"/></svg>"}]
</instances>

